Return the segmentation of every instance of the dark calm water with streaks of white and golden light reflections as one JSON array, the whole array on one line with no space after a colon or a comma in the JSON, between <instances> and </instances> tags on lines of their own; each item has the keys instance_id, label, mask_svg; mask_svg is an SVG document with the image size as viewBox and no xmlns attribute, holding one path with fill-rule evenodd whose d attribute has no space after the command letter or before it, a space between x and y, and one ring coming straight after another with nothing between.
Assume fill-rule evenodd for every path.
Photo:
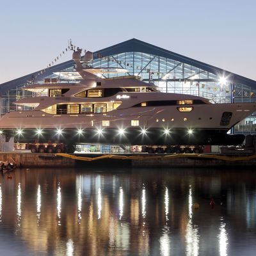
<instances>
[{"instance_id":1,"label":"dark calm water with streaks of white and golden light reflections","mask_svg":"<svg viewBox=\"0 0 256 256\"><path fill-rule=\"evenodd\" d=\"M0 176L0 255L255 255L251 171L31 169L12 176Z\"/></svg>"}]
</instances>

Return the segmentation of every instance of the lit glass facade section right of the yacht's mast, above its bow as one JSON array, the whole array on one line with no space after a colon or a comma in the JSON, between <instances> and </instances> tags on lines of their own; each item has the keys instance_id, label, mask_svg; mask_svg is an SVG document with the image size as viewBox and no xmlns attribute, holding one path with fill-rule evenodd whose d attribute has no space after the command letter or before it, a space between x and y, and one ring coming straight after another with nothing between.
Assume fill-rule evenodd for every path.
<instances>
[{"instance_id":1,"label":"lit glass facade section right of the yacht's mast, above its bow","mask_svg":"<svg viewBox=\"0 0 256 256\"><path fill-rule=\"evenodd\" d=\"M161 92L197 95L212 103L255 101L253 91L246 84L230 83L228 77L223 84L220 82L223 74L212 74L180 61L143 52L96 58L92 67L124 68L127 71L123 74L103 74L103 77L139 76L141 80L159 86Z\"/></svg>"}]
</instances>

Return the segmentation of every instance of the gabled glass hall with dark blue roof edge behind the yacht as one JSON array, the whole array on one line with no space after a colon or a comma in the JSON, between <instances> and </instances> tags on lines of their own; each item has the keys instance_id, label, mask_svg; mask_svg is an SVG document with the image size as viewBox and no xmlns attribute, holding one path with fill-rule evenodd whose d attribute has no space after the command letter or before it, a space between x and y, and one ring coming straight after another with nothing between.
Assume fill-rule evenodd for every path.
<instances>
[{"instance_id":1,"label":"gabled glass hall with dark blue roof edge behind the yacht","mask_svg":"<svg viewBox=\"0 0 256 256\"><path fill-rule=\"evenodd\" d=\"M93 60L88 65L106 68L102 74L106 78L138 76L143 81L156 84L162 92L198 95L212 103L256 102L256 81L134 38L93 52ZM124 68L126 72L109 74L109 67ZM12 102L28 96L20 88L29 83L56 80L76 83L80 79L74 69L74 61L70 60L49 67L44 72L40 70L0 84L1 115L17 110L18 107ZM232 132L256 132L255 114L237 124Z\"/></svg>"}]
</instances>

